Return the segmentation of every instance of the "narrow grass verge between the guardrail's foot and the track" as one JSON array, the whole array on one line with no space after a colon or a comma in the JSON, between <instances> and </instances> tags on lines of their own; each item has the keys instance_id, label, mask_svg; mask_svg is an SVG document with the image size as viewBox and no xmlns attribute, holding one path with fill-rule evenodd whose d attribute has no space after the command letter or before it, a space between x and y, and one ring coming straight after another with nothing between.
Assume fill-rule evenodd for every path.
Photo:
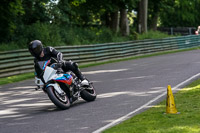
<instances>
[{"instance_id":1,"label":"narrow grass verge between the guardrail's foot and the track","mask_svg":"<svg viewBox=\"0 0 200 133\"><path fill-rule=\"evenodd\" d=\"M158 52L158 53L154 53L154 54L133 56L133 57L122 58L122 59L113 59L113 60L103 61L103 62L95 62L95 63L91 63L91 64L80 65L80 68L92 67L92 66L103 65L103 64L114 63L114 62L120 62L120 61L134 60L134 59L140 59L140 58L147 58L147 57L170 54L170 53L184 52L184 51L190 51L190 50L195 50L195 49L199 49L199 47L182 49L182 50ZM22 81L22 80L26 80L26 79L31 79L31 78L34 78L33 73L26 73L26 74L10 76L10 77L6 77L6 78L0 78L0 85L14 83L14 82L18 82L18 81Z\"/></svg>"}]
</instances>

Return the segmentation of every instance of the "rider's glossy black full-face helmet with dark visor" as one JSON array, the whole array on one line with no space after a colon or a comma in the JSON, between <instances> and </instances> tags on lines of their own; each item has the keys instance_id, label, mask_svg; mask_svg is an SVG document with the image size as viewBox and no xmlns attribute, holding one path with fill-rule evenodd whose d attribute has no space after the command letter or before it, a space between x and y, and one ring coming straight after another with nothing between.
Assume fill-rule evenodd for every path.
<instances>
[{"instance_id":1,"label":"rider's glossy black full-face helmet with dark visor","mask_svg":"<svg viewBox=\"0 0 200 133\"><path fill-rule=\"evenodd\" d=\"M43 49L42 42L40 40L34 40L30 42L28 49L33 56L39 57Z\"/></svg>"}]
</instances>

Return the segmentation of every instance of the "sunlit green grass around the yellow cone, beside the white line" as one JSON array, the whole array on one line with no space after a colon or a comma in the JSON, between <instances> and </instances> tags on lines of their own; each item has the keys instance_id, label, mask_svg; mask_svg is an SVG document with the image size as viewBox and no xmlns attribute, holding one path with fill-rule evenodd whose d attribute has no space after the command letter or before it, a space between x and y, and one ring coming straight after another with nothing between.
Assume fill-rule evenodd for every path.
<instances>
[{"instance_id":1,"label":"sunlit green grass around the yellow cone, beside the white line","mask_svg":"<svg viewBox=\"0 0 200 133\"><path fill-rule=\"evenodd\" d=\"M103 133L200 133L200 79L174 94L180 114L164 114L166 100Z\"/></svg>"}]
</instances>

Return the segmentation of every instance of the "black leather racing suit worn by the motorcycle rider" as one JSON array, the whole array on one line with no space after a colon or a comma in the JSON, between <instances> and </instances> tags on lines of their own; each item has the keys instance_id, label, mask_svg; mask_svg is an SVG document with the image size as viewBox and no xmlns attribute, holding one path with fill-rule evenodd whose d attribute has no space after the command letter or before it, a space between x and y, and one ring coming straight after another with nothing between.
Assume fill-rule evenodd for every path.
<instances>
[{"instance_id":1,"label":"black leather racing suit worn by the motorcycle rider","mask_svg":"<svg viewBox=\"0 0 200 133\"><path fill-rule=\"evenodd\" d=\"M80 80L83 80L84 77L83 75L81 74L79 68L78 68L78 65L72 61L65 61L63 60L63 55L61 52L57 51L55 48L53 47L46 47L46 48L43 48L43 52L44 52L44 56L43 57L36 57L34 59L34 67L35 67L35 70L37 69L37 63L38 61L47 61L49 59L51 59L52 57L57 59L57 61L59 62L62 62L62 69L63 71L67 72L67 71L72 71L74 74L76 74L76 76L80 79ZM37 72L37 71L36 71ZM37 75L37 73L36 73ZM39 78L40 76L37 75Z\"/></svg>"}]
</instances>

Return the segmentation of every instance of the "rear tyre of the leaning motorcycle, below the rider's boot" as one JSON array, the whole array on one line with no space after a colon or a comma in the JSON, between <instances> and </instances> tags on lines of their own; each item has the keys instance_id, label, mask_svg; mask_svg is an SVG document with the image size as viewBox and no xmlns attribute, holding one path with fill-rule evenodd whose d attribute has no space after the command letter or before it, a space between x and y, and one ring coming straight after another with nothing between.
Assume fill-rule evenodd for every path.
<instances>
[{"instance_id":1,"label":"rear tyre of the leaning motorcycle, below the rider's boot","mask_svg":"<svg viewBox=\"0 0 200 133\"><path fill-rule=\"evenodd\" d=\"M84 90L80 92L81 98L83 98L87 102L94 101L96 99L96 92L94 86L90 83L89 87L86 87Z\"/></svg>"}]
</instances>

